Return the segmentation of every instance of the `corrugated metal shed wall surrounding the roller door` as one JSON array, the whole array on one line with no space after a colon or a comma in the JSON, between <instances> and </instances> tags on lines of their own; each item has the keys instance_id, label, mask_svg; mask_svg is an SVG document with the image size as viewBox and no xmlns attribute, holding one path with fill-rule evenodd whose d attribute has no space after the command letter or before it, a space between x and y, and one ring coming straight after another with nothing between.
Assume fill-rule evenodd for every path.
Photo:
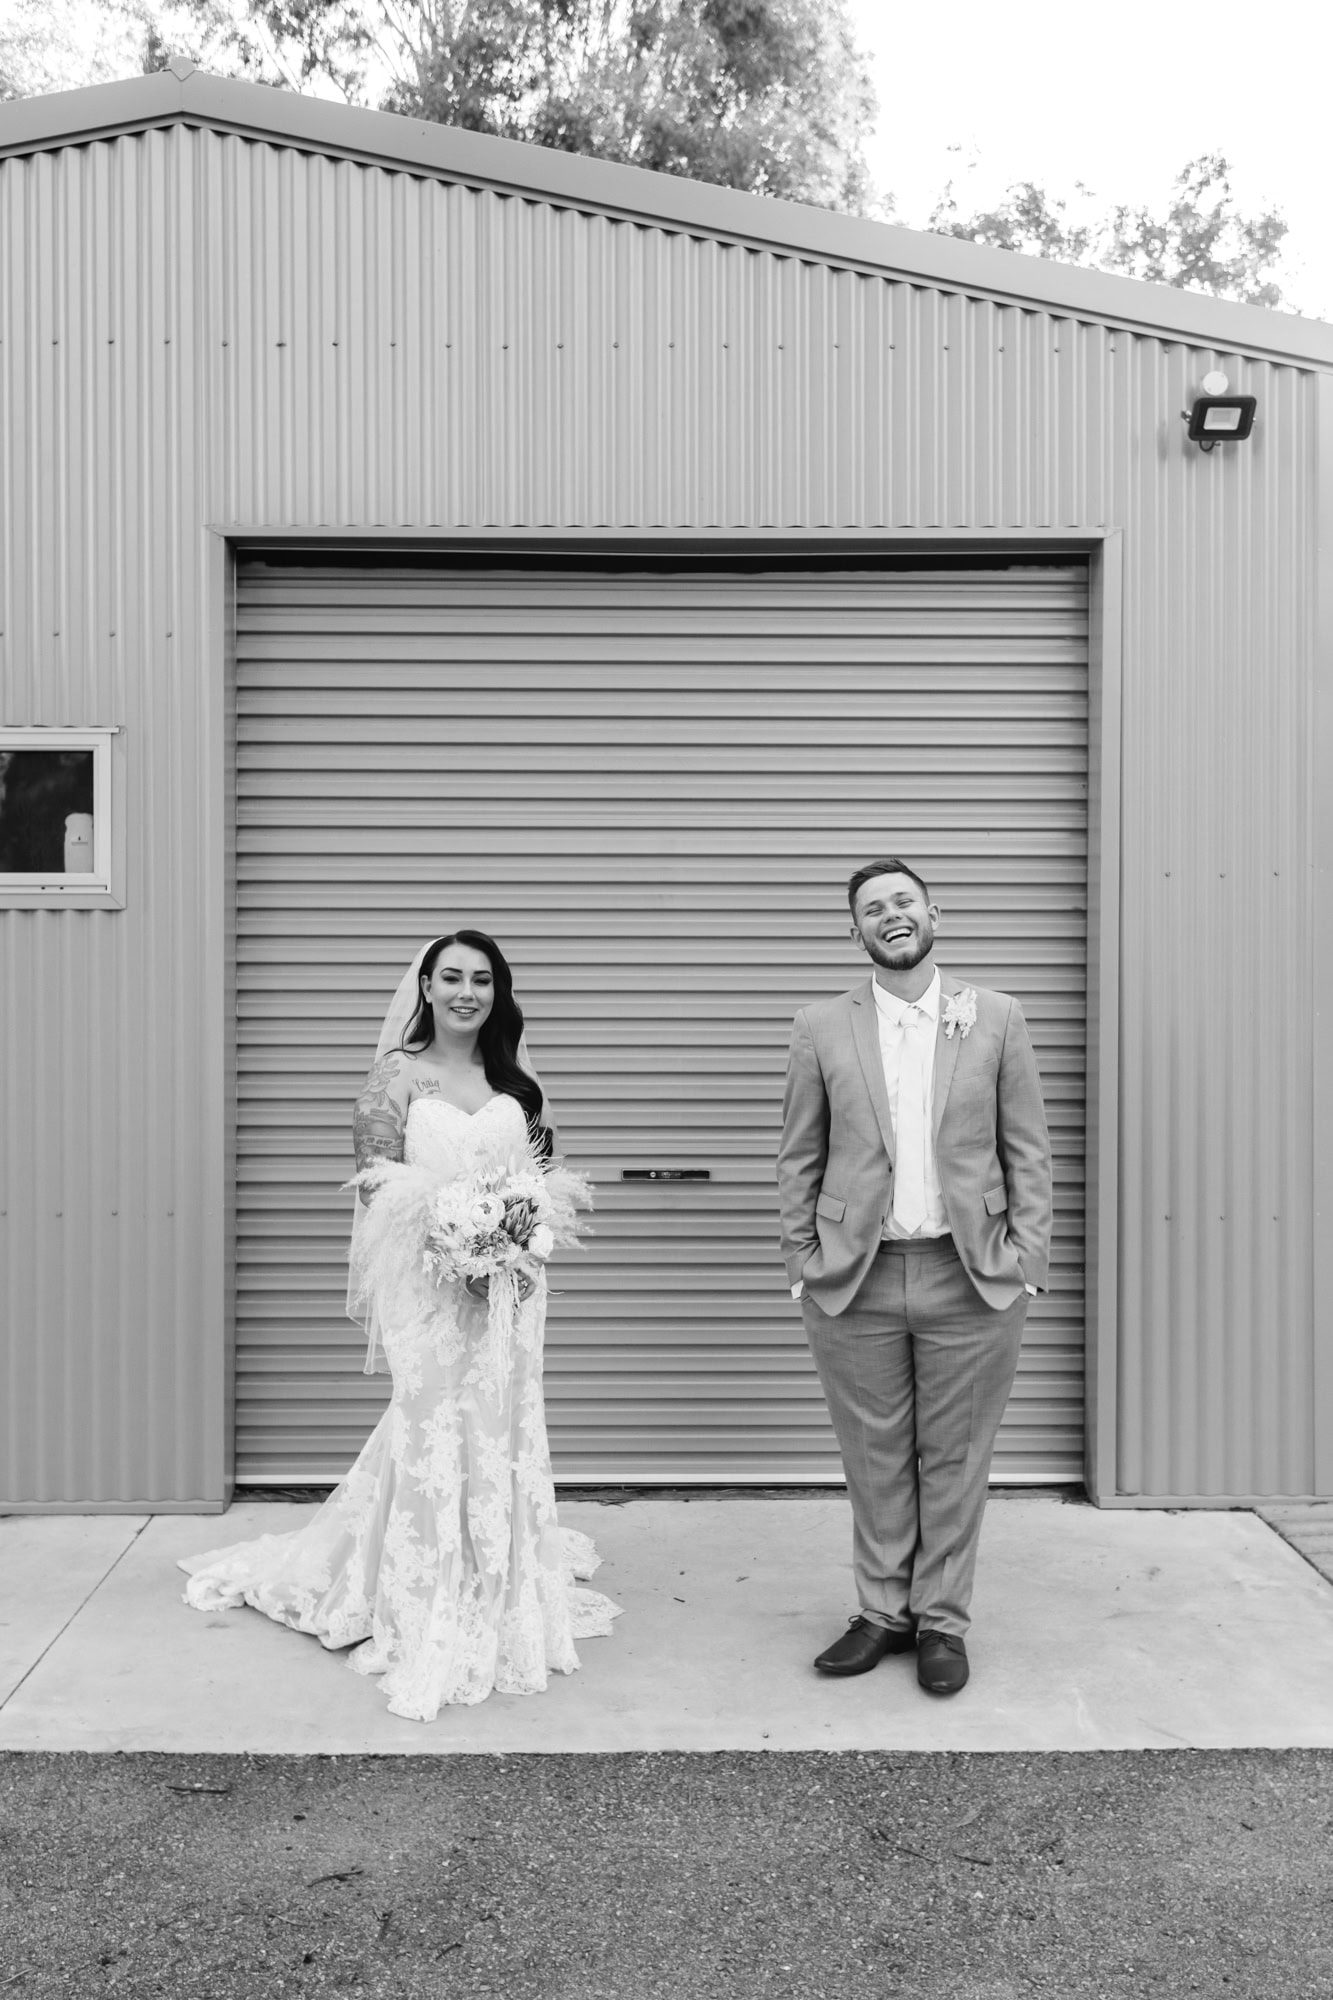
<instances>
[{"instance_id":1,"label":"corrugated metal shed wall surrounding the roller door","mask_svg":"<svg viewBox=\"0 0 1333 2000\"><path fill-rule=\"evenodd\" d=\"M1121 524L1119 1476L1309 1490L1309 372L184 126L4 160L0 310L4 720L130 758L126 912L0 914L4 1492L222 1490L206 522Z\"/></svg>"}]
</instances>

